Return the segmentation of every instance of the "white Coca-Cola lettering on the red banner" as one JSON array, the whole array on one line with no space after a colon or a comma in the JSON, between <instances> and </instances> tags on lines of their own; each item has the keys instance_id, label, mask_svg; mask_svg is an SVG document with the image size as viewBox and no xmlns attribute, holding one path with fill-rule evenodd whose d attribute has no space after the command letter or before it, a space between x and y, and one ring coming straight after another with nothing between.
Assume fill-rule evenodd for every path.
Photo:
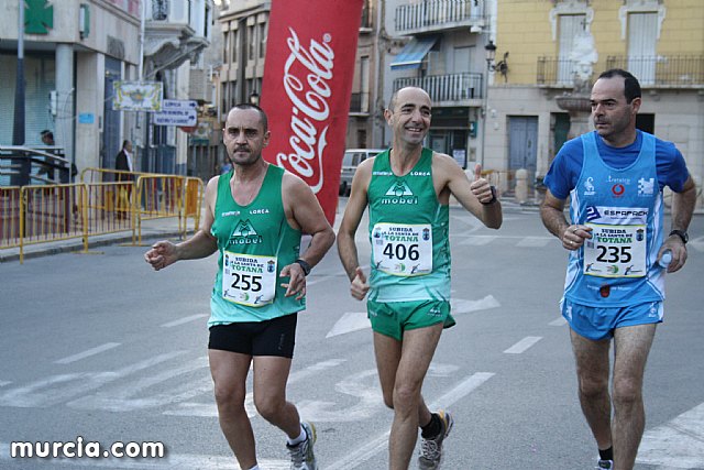
<instances>
[{"instance_id":1,"label":"white Coca-Cola lettering on the red banner","mask_svg":"<svg viewBox=\"0 0 704 470\"><path fill-rule=\"evenodd\" d=\"M290 153L279 152L276 162L304 178L317 194L323 183L322 154L328 144L328 101L332 95L328 83L332 79L334 51L329 45L330 34L323 35L322 43L310 40L309 48L305 50L296 32L292 28L288 31L286 44L290 55L284 66L284 89L292 103L293 135L288 139ZM294 67L296 64L302 67ZM293 68L300 70L305 79L298 78Z\"/></svg>"}]
</instances>

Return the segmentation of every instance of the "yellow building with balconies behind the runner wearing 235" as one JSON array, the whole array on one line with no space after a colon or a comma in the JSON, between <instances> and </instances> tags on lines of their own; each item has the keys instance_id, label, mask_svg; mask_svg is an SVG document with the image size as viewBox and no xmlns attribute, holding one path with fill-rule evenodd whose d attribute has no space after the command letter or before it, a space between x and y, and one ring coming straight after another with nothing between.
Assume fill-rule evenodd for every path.
<instances>
[{"instance_id":1,"label":"yellow building with balconies behind the runner wearing 235","mask_svg":"<svg viewBox=\"0 0 704 470\"><path fill-rule=\"evenodd\" d=\"M704 1L497 0L494 24L485 165L509 175L507 188L518 168L528 170L532 186L568 133L593 129L588 109L568 112L557 98L588 97L608 68L639 79L638 127L674 142L702 184Z\"/></svg>"}]
</instances>

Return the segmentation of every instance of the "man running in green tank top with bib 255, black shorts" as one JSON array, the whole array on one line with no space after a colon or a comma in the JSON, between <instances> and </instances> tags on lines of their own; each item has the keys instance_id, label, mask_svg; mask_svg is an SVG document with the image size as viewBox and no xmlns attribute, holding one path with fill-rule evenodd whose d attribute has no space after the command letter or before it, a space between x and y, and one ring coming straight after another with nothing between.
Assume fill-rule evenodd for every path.
<instances>
[{"instance_id":1,"label":"man running in green tank top with bib 255, black shorts","mask_svg":"<svg viewBox=\"0 0 704 470\"><path fill-rule=\"evenodd\" d=\"M230 110L223 142L233 170L208 183L202 227L183 243L155 243L144 258L158 271L179 260L220 253L208 358L222 433L239 466L258 469L244 408L254 361L257 409L288 436L290 468L315 470L316 430L286 401L286 382L296 313L305 307L306 275L332 245L334 232L310 187L262 159L267 127L266 114L256 106ZM301 232L312 238L298 258Z\"/></svg>"}]
</instances>

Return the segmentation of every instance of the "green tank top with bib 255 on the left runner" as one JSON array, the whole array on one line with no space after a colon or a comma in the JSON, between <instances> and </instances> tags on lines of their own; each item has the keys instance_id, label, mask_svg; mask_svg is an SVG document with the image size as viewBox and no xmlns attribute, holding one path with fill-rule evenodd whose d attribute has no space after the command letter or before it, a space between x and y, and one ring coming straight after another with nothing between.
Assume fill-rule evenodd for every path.
<instances>
[{"instance_id":1,"label":"green tank top with bib 255 on the left runner","mask_svg":"<svg viewBox=\"0 0 704 470\"><path fill-rule=\"evenodd\" d=\"M218 274L210 296L208 327L262 321L306 307L305 298L285 297L279 277L299 254L300 230L286 220L282 201L284 170L268 165L256 197L248 206L234 201L233 171L220 176L210 233L218 240Z\"/></svg>"}]
</instances>

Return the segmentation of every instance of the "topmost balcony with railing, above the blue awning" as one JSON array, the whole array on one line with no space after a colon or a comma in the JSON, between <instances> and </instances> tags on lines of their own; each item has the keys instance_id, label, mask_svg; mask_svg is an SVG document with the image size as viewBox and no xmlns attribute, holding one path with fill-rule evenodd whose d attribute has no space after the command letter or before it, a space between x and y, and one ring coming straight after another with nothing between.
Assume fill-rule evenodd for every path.
<instances>
[{"instance_id":1,"label":"topmost balcony with railing, above the blue awning","mask_svg":"<svg viewBox=\"0 0 704 470\"><path fill-rule=\"evenodd\" d=\"M486 25L484 0L425 0L396 7L395 24L399 34L418 34Z\"/></svg>"}]
</instances>

